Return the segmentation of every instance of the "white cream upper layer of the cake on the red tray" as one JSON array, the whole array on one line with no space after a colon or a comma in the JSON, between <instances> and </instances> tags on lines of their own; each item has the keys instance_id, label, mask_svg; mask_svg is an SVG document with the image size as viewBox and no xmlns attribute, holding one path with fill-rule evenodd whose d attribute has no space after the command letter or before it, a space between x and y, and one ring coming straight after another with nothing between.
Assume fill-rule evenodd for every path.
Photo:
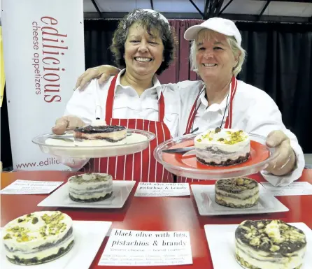
<instances>
[{"instance_id":1,"label":"white cream upper layer of the cake on the red tray","mask_svg":"<svg viewBox=\"0 0 312 269\"><path fill-rule=\"evenodd\" d=\"M241 137L243 141L229 145L225 141L230 140L229 132L233 133L239 131L238 129L221 129L220 132L215 133L215 129L208 129L204 133L199 134L194 138L195 148L206 150L207 147L213 147L213 150L222 150L224 152L242 152L243 149L249 147L250 151L250 138L248 133L242 132ZM209 138L204 138L208 134ZM223 141L219 141L222 138ZM249 146L248 146L249 145Z\"/></svg>"}]
</instances>

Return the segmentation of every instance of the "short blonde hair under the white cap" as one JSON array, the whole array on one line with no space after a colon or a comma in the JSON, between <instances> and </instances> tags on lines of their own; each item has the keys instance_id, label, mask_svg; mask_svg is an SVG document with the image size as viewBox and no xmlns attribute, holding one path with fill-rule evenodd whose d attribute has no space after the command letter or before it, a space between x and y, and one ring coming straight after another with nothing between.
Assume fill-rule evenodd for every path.
<instances>
[{"instance_id":1,"label":"short blonde hair under the white cap","mask_svg":"<svg viewBox=\"0 0 312 269\"><path fill-rule=\"evenodd\" d=\"M206 35L205 37L210 38L213 36L214 33L216 33L213 30L210 29L202 29L197 33L197 36L199 36L199 33L205 31ZM233 75L236 77L239 72L241 72L241 67L243 66L243 62L245 61L246 57L246 51L241 48L241 45L237 43L236 39L234 36L227 36L227 43L229 43L229 47L231 48L234 57L239 57L236 66L233 68ZM191 62L191 69L192 71L197 72L198 66L196 62L196 52L197 52L197 44L196 40L192 41L191 49L190 49L190 62ZM241 53L239 53L241 52Z\"/></svg>"}]
</instances>

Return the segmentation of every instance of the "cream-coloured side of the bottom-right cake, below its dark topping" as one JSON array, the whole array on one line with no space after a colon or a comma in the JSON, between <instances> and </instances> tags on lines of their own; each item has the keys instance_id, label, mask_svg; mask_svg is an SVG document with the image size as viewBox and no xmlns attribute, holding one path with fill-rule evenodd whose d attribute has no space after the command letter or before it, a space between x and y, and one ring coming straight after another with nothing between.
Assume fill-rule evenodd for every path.
<instances>
[{"instance_id":1,"label":"cream-coloured side of the bottom-right cake, below its dark topping","mask_svg":"<svg viewBox=\"0 0 312 269\"><path fill-rule=\"evenodd\" d=\"M304 261L304 254L306 247L300 249L299 252L295 252L291 257L265 257L267 252L256 252L255 249L244 245L241 240L235 240L235 252L244 261L251 266L263 269L294 269L302 265Z\"/></svg>"}]
</instances>

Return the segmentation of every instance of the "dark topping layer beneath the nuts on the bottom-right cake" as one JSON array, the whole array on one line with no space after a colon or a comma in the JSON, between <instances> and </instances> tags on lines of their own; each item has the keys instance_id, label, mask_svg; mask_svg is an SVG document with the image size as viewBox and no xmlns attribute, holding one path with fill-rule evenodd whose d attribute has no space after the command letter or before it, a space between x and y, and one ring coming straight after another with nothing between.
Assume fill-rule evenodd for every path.
<instances>
[{"instance_id":1,"label":"dark topping layer beneath the nuts on the bottom-right cake","mask_svg":"<svg viewBox=\"0 0 312 269\"><path fill-rule=\"evenodd\" d=\"M272 253L270 248L271 248L271 243L270 242L264 242L262 240L262 238L268 238L268 235L264 232L260 232L260 230L264 231L264 228L271 223L271 219L264 219L264 220L257 220L257 221L250 221L247 220L243 226L247 227L247 230L245 228L241 228L241 226L239 226L238 228L236 228L235 231L235 238L236 239L240 239L241 242L243 242L243 244L248 245L249 247L252 247L253 249L259 251L262 250L264 252L269 252ZM300 230L299 228L296 228L295 226L290 226L289 224L286 224L284 221L281 221L280 219L277 220L278 224L283 224L288 226L288 228L295 230L301 234L304 234L304 232L302 230ZM262 226L262 224L264 225L262 228L257 228L258 224L260 224ZM252 238L246 238L246 234L250 233L250 231L248 231L248 228L250 228L251 226L254 226L256 228L256 234L253 235L253 237L259 237L260 238L260 242L263 241L263 244L261 243L259 246L257 245L250 245L250 240L252 240ZM281 236L283 237L283 234L286 230L284 230L283 228L280 228L280 233ZM297 252L298 250L304 248L306 246L306 240L304 240L304 242L302 242L301 240L284 240L281 243L278 242L274 242L274 245L278 245L279 249L274 251L274 253L272 253L273 256L286 256L289 257L289 254L292 254L294 252Z\"/></svg>"}]
</instances>

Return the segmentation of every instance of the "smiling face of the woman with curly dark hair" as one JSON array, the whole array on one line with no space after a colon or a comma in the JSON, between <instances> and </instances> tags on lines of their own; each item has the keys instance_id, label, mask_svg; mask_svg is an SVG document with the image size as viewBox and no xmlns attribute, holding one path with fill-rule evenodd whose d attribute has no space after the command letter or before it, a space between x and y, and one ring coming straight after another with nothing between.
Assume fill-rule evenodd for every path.
<instances>
[{"instance_id":1,"label":"smiling face of the woman with curly dark hair","mask_svg":"<svg viewBox=\"0 0 312 269\"><path fill-rule=\"evenodd\" d=\"M129 27L125 42L127 72L133 75L153 75L162 64L164 45L157 30L150 34L137 22Z\"/></svg>"}]
</instances>

